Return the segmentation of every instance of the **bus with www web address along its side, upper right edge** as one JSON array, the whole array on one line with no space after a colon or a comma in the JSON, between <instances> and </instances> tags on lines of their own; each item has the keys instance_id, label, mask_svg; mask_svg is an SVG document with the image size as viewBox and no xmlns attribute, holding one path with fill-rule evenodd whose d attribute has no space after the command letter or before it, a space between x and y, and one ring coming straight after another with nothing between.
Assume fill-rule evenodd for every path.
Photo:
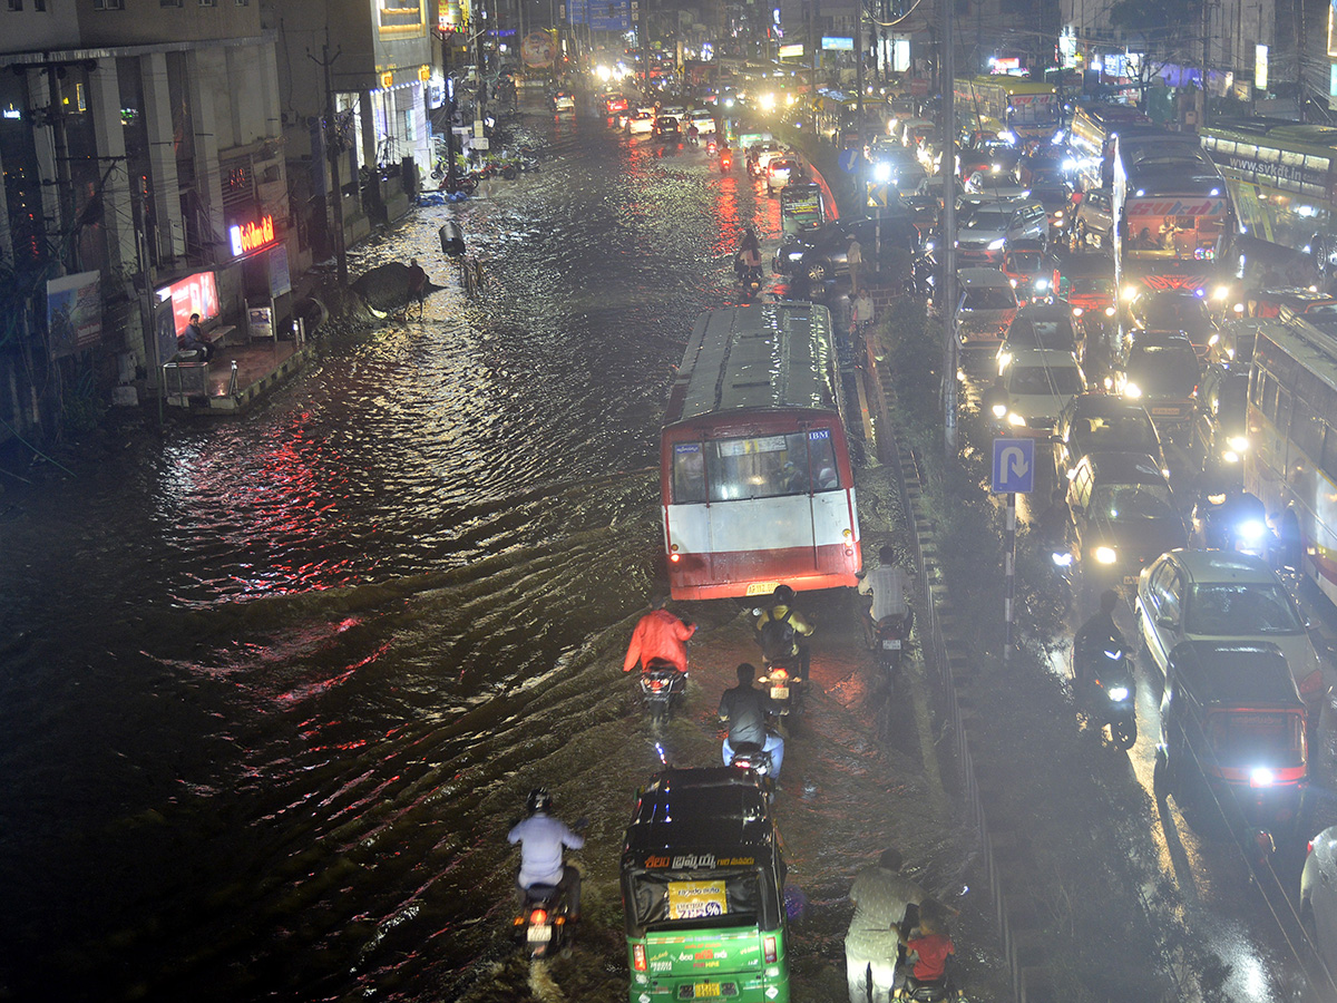
<instances>
[{"instance_id":1,"label":"bus with www web address along its side, upper right edge","mask_svg":"<svg viewBox=\"0 0 1337 1003\"><path fill-rule=\"evenodd\" d=\"M1243 233L1314 255L1337 253L1337 128L1218 123L1202 130L1202 148L1226 179ZM1325 246L1312 246L1316 235Z\"/></svg>"}]
</instances>

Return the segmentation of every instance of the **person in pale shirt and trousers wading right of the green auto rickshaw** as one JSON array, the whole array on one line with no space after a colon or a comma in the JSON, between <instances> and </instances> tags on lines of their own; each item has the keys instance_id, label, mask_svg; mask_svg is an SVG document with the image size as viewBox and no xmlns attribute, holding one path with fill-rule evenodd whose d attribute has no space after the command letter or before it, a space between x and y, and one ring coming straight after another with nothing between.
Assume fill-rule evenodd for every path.
<instances>
[{"instance_id":1,"label":"person in pale shirt and trousers wading right of the green auto rickshaw","mask_svg":"<svg viewBox=\"0 0 1337 1003\"><path fill-rule=\"evenodd\" d=\"M854 876L849 900L854 916L845 933L845 975L849 1003L880 1003L890 998L900 954L898 927L909 907L919 907L928 895L901 875L898 849L885 849L876 864ZM872 990L869 990L872 976Z\"/></svg>"}]
</instances>

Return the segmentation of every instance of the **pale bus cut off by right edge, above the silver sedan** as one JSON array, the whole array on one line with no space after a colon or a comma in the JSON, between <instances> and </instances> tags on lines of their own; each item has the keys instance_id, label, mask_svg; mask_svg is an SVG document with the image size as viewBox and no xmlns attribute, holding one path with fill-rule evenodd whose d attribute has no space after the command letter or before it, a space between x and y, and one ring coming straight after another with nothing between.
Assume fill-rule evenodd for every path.
<instances>
[{"instance_id":1,"label":"pale bus cut off by right edge, above the silver sedan","mask_svg":"<svg viewBox=\"0 0 1337 1003\"><path fill-rule=\"evenodd\" d=\"M1337 318L1282 308L1259 325L1246 423L1245 491L1269 512L1277 563L1337 603Z\"/></svg>"}]
</instances>

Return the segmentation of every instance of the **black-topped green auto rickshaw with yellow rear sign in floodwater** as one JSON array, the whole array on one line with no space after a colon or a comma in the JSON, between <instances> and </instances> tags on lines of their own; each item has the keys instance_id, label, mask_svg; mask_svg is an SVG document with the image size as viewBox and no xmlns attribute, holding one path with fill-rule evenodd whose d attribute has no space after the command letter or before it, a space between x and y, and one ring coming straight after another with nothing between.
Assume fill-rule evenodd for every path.
<instances>
[{"instance_id":1,"label":"black-topped green auto rickshaw with yellow rear sign in floodwater","mask_svg":"<svg viewBox=\"0 0 1337 1003\"><path fill-rule=\"evenodd\" d=\"M785 863L753 770L667 769L622 852L631 1003L789 999Z\"/></svg>"}]
</instances>

